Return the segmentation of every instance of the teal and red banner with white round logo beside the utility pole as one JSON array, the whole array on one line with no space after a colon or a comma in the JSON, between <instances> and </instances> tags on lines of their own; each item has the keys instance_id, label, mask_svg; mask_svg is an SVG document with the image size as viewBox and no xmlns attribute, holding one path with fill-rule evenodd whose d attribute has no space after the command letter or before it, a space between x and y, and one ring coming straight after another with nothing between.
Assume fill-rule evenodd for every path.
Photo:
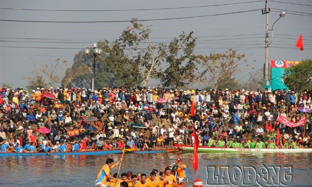
<instances>
[{"instance_id":1,"label":"teal and red banner with white round logo beside the utility pole","mask_svg":"<svg viewBox=\"0 0 312 187\"><path fill-rule=\"evenodd\" d=\"M288 90L283 80L284 70L285 68L297 65L299 63L300 61L271 60L271 85L273 91L277 89Z\"/></svg>"}]
</instances>

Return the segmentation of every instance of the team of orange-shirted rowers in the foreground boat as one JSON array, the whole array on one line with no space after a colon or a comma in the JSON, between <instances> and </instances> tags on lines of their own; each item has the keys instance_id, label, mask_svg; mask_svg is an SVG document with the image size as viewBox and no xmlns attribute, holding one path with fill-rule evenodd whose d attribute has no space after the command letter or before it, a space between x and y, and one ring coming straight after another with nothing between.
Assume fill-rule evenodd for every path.
<instances>
[{"instance_id":1,"label":"team of orange-shirted rowers in the foreground boat","mask_svg":"<svg viewBox=\"0 0 312 187\"><path fill-rule=\"evenodd\" d=\"M95 185L96 187L181 187L187 182L186 165L182 163L182 159L175 161L175 169L165 167L160 172L153 169L149 176L145 173L138 172L136 175L131 171L121 174L119 179L119 171L111 175L110 169L121 164L122 158L116 163L113 159L107 158L106 163L101 168ZM177 177L174 173L176 172Z\"/></svg>"}]
</instances>

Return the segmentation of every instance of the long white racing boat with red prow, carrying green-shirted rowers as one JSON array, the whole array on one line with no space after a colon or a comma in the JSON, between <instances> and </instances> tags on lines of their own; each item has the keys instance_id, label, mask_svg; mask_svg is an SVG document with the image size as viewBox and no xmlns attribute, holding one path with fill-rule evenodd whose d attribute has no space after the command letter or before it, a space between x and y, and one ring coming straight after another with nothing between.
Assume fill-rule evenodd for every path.
<instances>
[{"instance_id":1,"label":"long white racing boat with red prow, carrying green-shirted rowers","mask_svg":"<svg viewBox=\"0 0 312 187\"><path fill-rule=\"evenodd\" d=\"M194 151L193 145L181 145L175 144L176 147L184 151ZM296 148L296 149L252 149L252 148L221 148L221 147L206 147L199 146L198 152L211 152L211 153L222 153L222 152L280 152L280 153L292 153L292 152L312 152L312 148Z\"/></svg>"}]
</instances>

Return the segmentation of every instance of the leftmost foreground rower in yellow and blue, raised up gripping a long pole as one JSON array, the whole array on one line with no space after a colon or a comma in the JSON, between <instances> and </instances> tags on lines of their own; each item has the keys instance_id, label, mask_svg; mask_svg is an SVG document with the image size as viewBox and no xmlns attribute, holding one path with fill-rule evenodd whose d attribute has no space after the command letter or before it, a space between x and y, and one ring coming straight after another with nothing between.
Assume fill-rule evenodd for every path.
<instances>
[{"instance_id":1,"label":"leftmost foreground rower in yellow and blue, raised up gripping a long pole","mask_svg":"<svg viewBox=\"0 0 312 187\"><path fill-rule=\"evenodd\" d=\"M110 180L118 181L117 178L111 176L110 174L110 169L116 167L118 164L120 164L122 161L122 157L118 162L113 164L114 160L111 158L106 159L105 165L101 168L97 179L95 181L95 186L96 187L109 187L110 185Z\"/></svg>"}]
</instances>

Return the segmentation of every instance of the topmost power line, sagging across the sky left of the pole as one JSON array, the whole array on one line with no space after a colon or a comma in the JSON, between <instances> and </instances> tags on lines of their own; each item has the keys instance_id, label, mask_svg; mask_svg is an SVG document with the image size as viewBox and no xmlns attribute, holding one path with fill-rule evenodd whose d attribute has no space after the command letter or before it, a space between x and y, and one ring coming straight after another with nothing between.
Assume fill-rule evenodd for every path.
<instances>
[{"instance_id":1,"label":"topmost power line, sagging across the sky left of the pole","mask_svg":"<svg viewBox=\"0 0 312 187\"><path fill-rule=\"evenodd\" d=\"M141 9L112 9L112 10L57 10L57 9L27 9L27 8L2 8L4 10L31 10L31 11L82 11L82 12L96 12L96 11L141 11L141 10L170 10L170 9L185 9L185 8L204 8L213 6L224 6L224 5L234 5L234 4L246 4L261 2L262 0L248 1L248 2L235 2L235 3L224 3L224 4L212 4L212 5L201 5L201 6L182 6L182 7L169 7L169 8L141 8Z\"/></svg>"}]
</instances>

